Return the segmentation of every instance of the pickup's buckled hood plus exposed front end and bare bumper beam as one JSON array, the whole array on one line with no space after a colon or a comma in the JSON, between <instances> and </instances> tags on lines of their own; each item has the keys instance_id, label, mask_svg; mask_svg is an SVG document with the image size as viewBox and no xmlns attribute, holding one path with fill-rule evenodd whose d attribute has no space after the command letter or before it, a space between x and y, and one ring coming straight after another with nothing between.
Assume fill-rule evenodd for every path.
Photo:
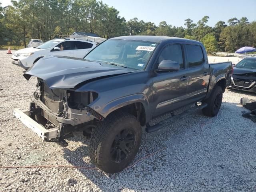
<instances>
[{"instance_id":1,"label":"pickup's buckled hood plus exposed front end and bare bumper beam","mask_svg":"<svg viewBox=\"0 0 256 192\"><path fill-rule=\"evenodd\" d=\"M78 89L94 80L131 72L134 70L79 58L45 56L23 74L26 80L38 78L29 111L15 109L14 115L44 140L64 143L79 128L90 136L92 127L104 119L95 111L100 106L90 107L100 97L97 92Z\"/></svg>"}]
</instances>

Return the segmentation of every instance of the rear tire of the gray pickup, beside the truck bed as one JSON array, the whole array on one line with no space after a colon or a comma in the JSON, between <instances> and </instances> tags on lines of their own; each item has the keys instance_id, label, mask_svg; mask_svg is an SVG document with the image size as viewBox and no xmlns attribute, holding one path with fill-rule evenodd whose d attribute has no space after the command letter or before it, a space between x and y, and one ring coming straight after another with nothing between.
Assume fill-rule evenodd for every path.
<instances>
[{"instance_id":1,"label":"rear tire of the gray pickup, beside the truck bed","mask_svg":"<svg viewBox=\"0 0 256 192\"><path fill-rule=\"evenodd\" d=\"M222 104L223 91L220 86L215 86L212 90L211 96L204 100L207 103L207 107L202 109L202 113L209 117L214 117L218 114L220 106Z\"/></svg>"}]
</instances>

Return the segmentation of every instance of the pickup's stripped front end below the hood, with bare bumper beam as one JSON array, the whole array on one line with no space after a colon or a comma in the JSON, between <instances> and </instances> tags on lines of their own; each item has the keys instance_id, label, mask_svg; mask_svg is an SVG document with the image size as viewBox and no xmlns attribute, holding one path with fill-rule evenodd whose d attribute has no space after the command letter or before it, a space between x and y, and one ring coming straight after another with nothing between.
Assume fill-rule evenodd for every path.
<instances>
[{"instance_id":1,"label":"pickup's stripped front end below the hood, with bare bumper beam","mask_svg":"<svg viewBox=\"0 0 256 192\"><path fill-rule=\"evenodd\" d=\"M88 136L92 127L104 119L88 106L98 98L96 92L50 89L40 78L38 78L37 88L31 99L29 111L22 112L35 122L32 123L33 125L24 123L24 121L30 121L29 119L23 119L22 122L44 140L55 140L63 146L67 146L64 139L73 136L74 130L82 129ZM14 115L22 120L20 113L18 110L14 110ZM43 132L41 132L42 130ZM49 132L54 134L48 134Z\"/></svg>"}]
</instances>

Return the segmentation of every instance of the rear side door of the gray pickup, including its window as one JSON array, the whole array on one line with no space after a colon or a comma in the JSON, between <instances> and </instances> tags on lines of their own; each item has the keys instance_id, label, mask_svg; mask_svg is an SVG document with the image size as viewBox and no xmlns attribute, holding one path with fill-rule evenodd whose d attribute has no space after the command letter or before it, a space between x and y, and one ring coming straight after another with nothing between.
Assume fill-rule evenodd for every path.
<instances>
[{"instance_id":1,"label":"rear side door of the gray pickup, including its window","mask_svg":"<svg viewBox=\"0 0 256 192\"><path fill-rule=\"evenodd\" d=\"M204 48L198 44L186 44L188 70L188 100L196 102L207 94L210 67Z\"/></svg>"}]
</instances>

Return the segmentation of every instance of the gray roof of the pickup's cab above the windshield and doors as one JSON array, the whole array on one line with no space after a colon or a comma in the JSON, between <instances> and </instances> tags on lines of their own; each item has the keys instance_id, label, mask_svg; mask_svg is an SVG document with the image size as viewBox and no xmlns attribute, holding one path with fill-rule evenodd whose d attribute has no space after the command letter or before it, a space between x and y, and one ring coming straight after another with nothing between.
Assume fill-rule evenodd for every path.
<instances>
[{"instance_id":1,"label":"gray roof of the pickup's cab above the windshield and doors","mask_svg":"<svg viewBox=\"0 0 256 192\"><path fill-rule=\"evenodd\" d=\"M150 42L156 42L159 43L163 40L172 40L172 41L185 41L185 42L193 42L193 43L200 43L199 41L190 40L190 39L184 39L184 38L178 38L178 37L167 37L167 36L144 36L144 35L135 35L135 36L120 36L120 37L114 37L111 39L122 39L122 40L138 40L138 41L150 41Z\"/></svg>"}]
</instances>

